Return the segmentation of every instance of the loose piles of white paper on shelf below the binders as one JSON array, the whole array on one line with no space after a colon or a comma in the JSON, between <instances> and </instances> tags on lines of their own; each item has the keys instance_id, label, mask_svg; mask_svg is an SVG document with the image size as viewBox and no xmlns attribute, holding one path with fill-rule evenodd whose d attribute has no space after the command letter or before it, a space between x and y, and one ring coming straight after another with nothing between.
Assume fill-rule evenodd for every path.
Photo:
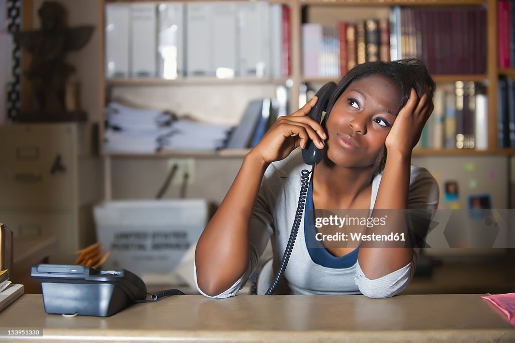
<instances>
[{"instance_id":1,"label":"loose piles of white paper on shelf below the binders","mask_svg":"<svg viewBox=\"0 0 515 343\"><path fill-rule=\"evenodd\" d=\"M106 108L104 151L155 153L162 149L215 150L224 147L231 127L174 120L170 114L140 110L118 103Z\"/></svg>"}]
</instances>

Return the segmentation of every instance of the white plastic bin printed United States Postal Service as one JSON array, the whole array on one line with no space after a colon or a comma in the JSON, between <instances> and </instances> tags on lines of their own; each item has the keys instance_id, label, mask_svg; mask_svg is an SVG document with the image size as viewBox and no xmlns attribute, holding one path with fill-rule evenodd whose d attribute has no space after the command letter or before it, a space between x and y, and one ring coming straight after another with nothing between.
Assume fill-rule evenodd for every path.
<instances>
[{"instance_id":1,"label":"white plastic bin printed United States Postal Service","mask_svg":"<svg viewBox=\"0 0 515 343\"><path fill-rule=\"evenodd\" d=\"M102 269L168 273L207 224L202 199L109 201L95 206L97 239L111 255ZM193 272L192 272L193 273Z\"/></svg>"}]
</instances>

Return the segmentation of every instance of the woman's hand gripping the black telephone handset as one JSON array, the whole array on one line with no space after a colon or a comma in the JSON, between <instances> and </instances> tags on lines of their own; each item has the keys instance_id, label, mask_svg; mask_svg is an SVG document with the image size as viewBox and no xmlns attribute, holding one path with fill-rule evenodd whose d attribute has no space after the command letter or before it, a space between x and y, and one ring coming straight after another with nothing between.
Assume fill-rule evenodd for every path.
<instances>
[{"instance_id":1,"label":"woman's hand gripping the black telephone handset","mask_svg":"<svg viewBox=\"0 0 515 343\"><path fill-rule=\"evenodd\" d=\"M289 116L279 117L250 153L268 165L286 158L298 147L304 149L308 139L313 140L317 148L323 149L322 140L327 135L322 125L307 116L317 99L314 97Z\"/></svg>"}]
</instances>

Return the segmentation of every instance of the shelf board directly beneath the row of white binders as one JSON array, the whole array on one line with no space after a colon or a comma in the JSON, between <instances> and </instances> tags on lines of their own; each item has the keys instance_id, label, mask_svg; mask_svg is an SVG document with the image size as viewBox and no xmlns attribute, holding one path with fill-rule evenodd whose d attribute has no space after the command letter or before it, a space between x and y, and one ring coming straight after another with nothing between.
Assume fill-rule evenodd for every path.
<instances>
[{"instance_id":1,"label":"shelf board directly beneath the row of white binders","mask_svg":"<svg viewBox=\"0 0 515 343\"><path fill-rule=\"evenodd\" d=\"M169 85L231 85L231 84L285 84L287 78L234 78L217 79L209 77L190 77L174 80L159 78L134 78L134 79L106 79L106 84L111 86L169 86Z\"/></svg>"}]
</instances>

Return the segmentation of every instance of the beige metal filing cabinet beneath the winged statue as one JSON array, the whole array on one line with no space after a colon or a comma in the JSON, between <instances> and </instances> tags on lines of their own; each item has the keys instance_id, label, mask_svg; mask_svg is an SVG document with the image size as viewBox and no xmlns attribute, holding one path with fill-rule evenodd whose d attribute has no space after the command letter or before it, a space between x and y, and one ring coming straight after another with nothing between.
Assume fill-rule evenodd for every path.
<instances>
[{"instance_id":1,"label":"beige metal filing cabinet beneath the winged statue","mask_svg":"<svg viewBox=\"0 0 515 343\"><path fill-rule=\"evenodd\" d=\"M95 241L93 205L101 200L100 159L91 124L0 126L0 222L14 236L55 236L51 263Z\"/></svg>"}]
</instances>

